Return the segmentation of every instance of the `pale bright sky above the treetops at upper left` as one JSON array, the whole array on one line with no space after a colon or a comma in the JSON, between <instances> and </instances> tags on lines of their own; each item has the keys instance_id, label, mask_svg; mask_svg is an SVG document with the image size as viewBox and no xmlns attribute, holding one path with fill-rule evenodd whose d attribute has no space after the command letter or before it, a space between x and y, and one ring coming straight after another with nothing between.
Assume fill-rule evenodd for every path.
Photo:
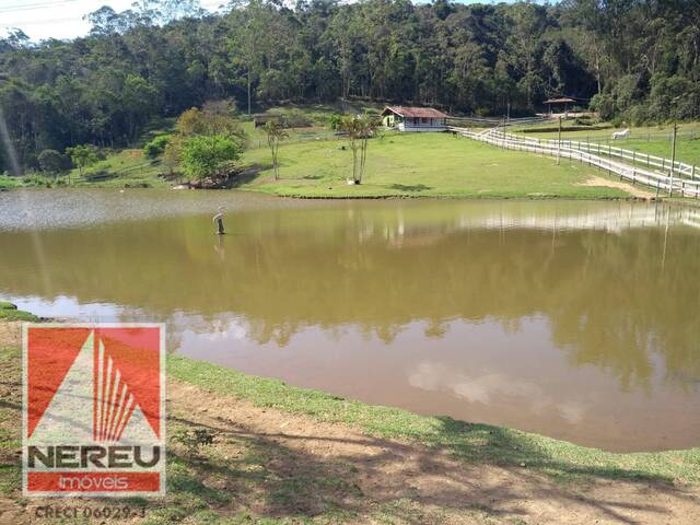
<instances>
[{"instance_id":1,"label":"pale bright sky above the treetops at upper left","mask_svg":"<svg viewBox=\"0 0 700 525\"><path fill-rule=\"evenodd\" d=\"M20 28L33 40L84 36L90 24L82 18L103 5L115 11L131 7L133 0L0 0L0 35ZM225 0L200 0L214 11Z\"/></svg>"}]
</instances>

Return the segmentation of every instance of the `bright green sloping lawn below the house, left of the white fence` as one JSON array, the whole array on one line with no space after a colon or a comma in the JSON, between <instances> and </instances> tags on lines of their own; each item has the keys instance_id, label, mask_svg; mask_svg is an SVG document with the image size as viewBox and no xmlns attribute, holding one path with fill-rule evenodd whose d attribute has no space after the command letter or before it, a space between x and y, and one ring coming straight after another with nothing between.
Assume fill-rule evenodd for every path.
<instances>
[{"instance_id":1,"label":"bright green sloping lawn below the house, left of the white fence","mask_svg":"<svg viewBox=\"0 0 700 525\"><path fill-rule=\"evenodd\" d=\"M503 151L448 133L387 133L370 141L359 186L348 186L347 140L292 142L280 148L275 180L267 148L248 150L242 189L285 197L622 198L625 191L582 186L591 167Z\"/></svg>"}]
</instances>

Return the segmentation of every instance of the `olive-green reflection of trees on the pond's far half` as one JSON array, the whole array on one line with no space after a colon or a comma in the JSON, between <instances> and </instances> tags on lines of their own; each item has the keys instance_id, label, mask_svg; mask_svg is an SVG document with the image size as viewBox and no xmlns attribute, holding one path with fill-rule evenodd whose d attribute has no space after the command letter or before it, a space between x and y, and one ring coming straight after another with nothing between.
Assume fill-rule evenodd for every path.
<instances>
[{"instance_id":1,"label":"olive-green reflection of trees on the pond's far half","mask_svg":"<svg viewBox=\"0 0 700 525\"><path fill-rule=\"evenodd\" d=\"M225 339L234 319L233 345L279 347L312 329L323 334L319 347L353 332L389 348L410 332L430 353L438 343L458 349L464 336L454 327L466 324L498 326L517 352L524 324L542 319L540 347L563 352L569 366L612 374L622 393L649 394L657 374L698 389L692 210L343 202L230 218L230 235L218 240L208 215L0 231L0 294L138 308L168 323L175 338L188 330Z\"/></svg>"}]
</instances>

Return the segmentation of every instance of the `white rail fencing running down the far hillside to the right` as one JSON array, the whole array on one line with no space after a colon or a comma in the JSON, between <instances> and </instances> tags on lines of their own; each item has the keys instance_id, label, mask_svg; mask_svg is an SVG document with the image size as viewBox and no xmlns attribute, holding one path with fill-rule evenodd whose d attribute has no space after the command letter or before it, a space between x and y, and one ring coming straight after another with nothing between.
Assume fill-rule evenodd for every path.
<instances>
[{"instance_id":1,"label":"white rail fencing running down the far hillside to the right","mask_svg":"<svg viewBox=\"0 0 700 525\"><path fill-rule=\"evenodd\" d=\"M637 156L633 158L631 165L621 161L612 160L612 156L616 156L615 154L611 154L606 159L604 155L608 153L607 147L600 147L600 154L598 154L597 147L599 144L594 144L593 142L586 143L569 140L558 142L557 140L520 137L506 133L498 128L491 128L480 132L475 132L470 129L459 127L450 127L450 129L465 137L497 145L499 148L529 151L541 155L570 159L572 161L595 166L610 174L618 175L620 179L627 179L632 184L643 184L655 188L656 194L664 191L668 195L693 198L700 197L700 180L695 178L684 178L681 176L685 175L686 177L692 177L696 174L695 166L689 166L687 164L677 163L676 165L682 164L685 167L681 171L680 166L678 166L677 171L674 170L672 175L670 173L658 173L656 171L635 165ZM580 144L583 144L583 147ZM618 150L617 156L625 161L632 160L629 159L628 153L635 153L628 152L628 150L621 150L619 148L616 148L616 150ZM639 153L637 153L637 155L639 155ZM650 165L652 165L651 162L657 162L657 159L661 158L644 155L644 160L650 161ZM662 162L665 162L665 160ZM668 161L668 168L670 170L670 161Z\"/></svg>"}]
</instances>

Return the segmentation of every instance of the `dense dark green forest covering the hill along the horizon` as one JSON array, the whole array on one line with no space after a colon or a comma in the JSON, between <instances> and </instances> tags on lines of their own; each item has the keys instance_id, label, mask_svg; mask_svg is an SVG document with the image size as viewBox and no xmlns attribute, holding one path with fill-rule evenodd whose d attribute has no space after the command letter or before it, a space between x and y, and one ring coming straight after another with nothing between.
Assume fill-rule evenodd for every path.
<instances>
[{"instance_id":1,"label":"dense dark green forest covering the hill along the horizon","mask_svg":"<svg viewBox=\"0 0 700 525\"><path fill-rule=\"evenodd\" d=\"M700 115L700 0L140 0L89 36L0 39L0 173L46 149L132 143L206 101L433 105L514 115L567 95L633 124Z\"/></svg>"}]
</instances>

